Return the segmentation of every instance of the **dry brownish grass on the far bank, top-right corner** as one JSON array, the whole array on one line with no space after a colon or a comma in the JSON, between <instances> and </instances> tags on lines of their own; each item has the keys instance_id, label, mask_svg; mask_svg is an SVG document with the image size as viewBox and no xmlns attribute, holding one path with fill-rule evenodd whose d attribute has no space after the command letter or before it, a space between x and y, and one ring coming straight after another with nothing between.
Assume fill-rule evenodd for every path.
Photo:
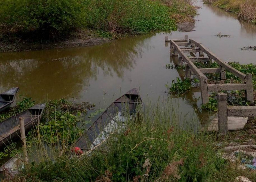
<instances>
[{"instance_id":1,"label":"dry brownish grass on the far bank, top-right corner","mask_svg":"<svg viewBox=\"0 0 256 182\"><path fill-rule=\"evenodd\" d=\"M238 18L256 24L256 1L255 0L204 0L225 11L237 14Z\"/></svg>"}]
</instances>

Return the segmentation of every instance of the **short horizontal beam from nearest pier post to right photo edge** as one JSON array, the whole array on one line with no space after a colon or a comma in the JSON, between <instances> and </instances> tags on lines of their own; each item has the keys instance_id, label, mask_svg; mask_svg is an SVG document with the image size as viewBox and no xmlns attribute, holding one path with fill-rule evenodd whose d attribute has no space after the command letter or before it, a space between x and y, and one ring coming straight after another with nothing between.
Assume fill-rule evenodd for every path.
<instances>
[{"instance_id":1,"label":"short horizontal beam from nearest pier post to right photo edge","mask_svg":"<svg viewBox=\"0 0 256 182\"><path fill-rule=\"evenodd\" d=\"M256 116L256 106L227 106L229 116Z\"/></svg>"}]
</instances>

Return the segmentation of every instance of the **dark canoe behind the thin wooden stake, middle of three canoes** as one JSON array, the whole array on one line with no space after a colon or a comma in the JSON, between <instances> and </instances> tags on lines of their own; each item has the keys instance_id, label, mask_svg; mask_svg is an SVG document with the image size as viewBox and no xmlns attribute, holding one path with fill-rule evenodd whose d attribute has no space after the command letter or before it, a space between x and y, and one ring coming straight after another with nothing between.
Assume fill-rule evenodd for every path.
<instances>
[{"instance_id":1,"label":"dark canoe behind the thin wooden stake, middle of three canoes","mask_svg":"<svg viewBox=\"0 0 256 182\"><path fill-rule=\"evenodd\" d=\"M20 138L19 118L24 118L25 131L39 123L45 104L37 104L0 122L0 147L4 147Z\"/></svg>"}]
</instances>

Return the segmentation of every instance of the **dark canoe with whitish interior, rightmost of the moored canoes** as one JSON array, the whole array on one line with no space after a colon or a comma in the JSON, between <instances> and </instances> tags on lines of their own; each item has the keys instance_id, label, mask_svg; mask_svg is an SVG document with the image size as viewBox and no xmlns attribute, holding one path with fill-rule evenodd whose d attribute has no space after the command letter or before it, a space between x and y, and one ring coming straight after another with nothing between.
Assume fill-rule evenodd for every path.
<instances>
[{"instance_id":1,"label":"dark canoe with whitish interior, rightmost of the moored canoes","mask_svg":"<svg viewBox=\"0 0 256 182\"><path fill-rule=\"evenodd\" d=\"M84 151L94 150L113 132L124 129L124 123L134 120L143 105L138 90L133 88L114 101L76 141L75 147Z\"/></svg>"}]
</instances>

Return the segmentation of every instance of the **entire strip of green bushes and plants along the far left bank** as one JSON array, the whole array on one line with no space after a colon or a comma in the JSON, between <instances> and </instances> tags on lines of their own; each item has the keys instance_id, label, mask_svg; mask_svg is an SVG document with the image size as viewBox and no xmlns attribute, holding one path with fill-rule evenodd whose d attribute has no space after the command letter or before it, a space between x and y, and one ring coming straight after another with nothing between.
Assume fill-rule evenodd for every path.
<instances>
[{"instance_id":1,"label":"entire strip of green bushes and plants along the far left bank","mask_svg":"<svg viewBox=\"0 0 256 182\"><path fill-rule=\"evenodd\" d=\"M175 6L173 2L176 2ZM172 2L172 3L170 3ZM37 32L57 37L75 28L109 32L146 33L175 29L176 0L2 0L0 33ZM184 6L184 1L180 2ZM169 4L169 6L167 5ZM195 12L191 5L187 7ZM183 8L184 9L184 8Z\"/></svg>"}]
</instances>

